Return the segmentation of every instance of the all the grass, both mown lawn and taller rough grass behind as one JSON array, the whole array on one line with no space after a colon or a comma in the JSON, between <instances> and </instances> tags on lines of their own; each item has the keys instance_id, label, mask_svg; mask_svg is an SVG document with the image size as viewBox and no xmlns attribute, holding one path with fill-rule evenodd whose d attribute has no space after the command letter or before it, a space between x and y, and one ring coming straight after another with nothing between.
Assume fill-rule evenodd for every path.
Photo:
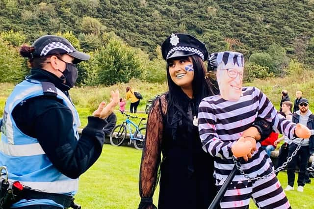
<instances>
[{"instance_id":1,"label":"all the grass, both mown lawn and taller rough grass behind","mask_svg":"<svg viewBox=\"0 0 314 209\"><path fill-rule=\"evenodd\" d=\"M254 83L246 83L246 86L259 87L279 108L282 89L287 89L291 100L294 100L296 90L303 92L303 97L309 99L310 109L314 110L314 71L304 72L302 75L287 78L269 78L255 80ZM81 120L81 128L87 123L87 116L97 108L101 101L108 101L110 90L119 89L121 97L125 97L125 87L132 86L139 91L144 100L141 101L138 110L144 111L146 101L156 94L167 90L167 85L142 83L131 80L127 84L116 84L110 87L75 87L70 94L78 109ZM0 83L0 115L6 98L14 88L11 83ZM129 109L128 103L126 109ZM121 124L125 117L116 111L118 122ZM138 113L139 117L147 117L146 114ZM1 116L0 116L1 117ZM132 119L135 123L137 119ZM104 145L104 150L98 161L83 175L79 181L79 191L75 196L76 202L83 209L135 209L140 201L138 194L138 176L141 151L133 147L113 147ZM287 186L287 174L280 172L279 180L282 186ZM296 186L295 186L296 187ZM304 193L295 191L286 192L293 209L313 209L312 201L314 194L313 184L306 184ZM158 188L155 192L154 202L157 204ZM250 208L256 208L251 201Z\"/></svg>"}]
</instances>

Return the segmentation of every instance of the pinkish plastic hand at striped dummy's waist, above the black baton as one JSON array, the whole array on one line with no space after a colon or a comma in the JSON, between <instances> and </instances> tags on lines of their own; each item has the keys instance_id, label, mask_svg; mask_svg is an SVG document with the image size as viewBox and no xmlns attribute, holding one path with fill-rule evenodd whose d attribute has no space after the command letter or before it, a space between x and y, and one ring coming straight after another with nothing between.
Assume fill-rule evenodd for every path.
<instances>
[{"instance_id":1,"label":"pinkish plastic hand at striped dummy's waist, above the black baton","mask_svg":"<svg viewBox=\"0 0 314 209\"><path fill-rule=\"evenodd\" d=\"M231 147L235 157L243 157L245 160L251 157L252 151L256 150L256 140L252 137L240 137Z\"/></svg>"}]
</instances>

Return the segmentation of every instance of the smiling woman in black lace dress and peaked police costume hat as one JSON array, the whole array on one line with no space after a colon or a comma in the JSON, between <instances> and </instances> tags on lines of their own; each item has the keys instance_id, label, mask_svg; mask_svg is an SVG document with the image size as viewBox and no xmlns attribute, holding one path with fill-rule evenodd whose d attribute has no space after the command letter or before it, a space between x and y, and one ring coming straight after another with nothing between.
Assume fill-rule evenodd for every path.
<instances>
[{"instance_id":1,"label":"smiling woman in black lace dress and peaked police costume hat","mask_svg":"<svg viewBox=\"0 0 314 209\"><path fill-rule=\"evenodd\" d=\"M208 52L204 43L187 34L172 34L161 50L169 92L157 98L149 113L139 208L155 208L152 197L161 153L158 208L207 208L216 193L213 160L202 150L192 121L199 102L209 94L203 62Z\"/></svg>"}]
</instances>

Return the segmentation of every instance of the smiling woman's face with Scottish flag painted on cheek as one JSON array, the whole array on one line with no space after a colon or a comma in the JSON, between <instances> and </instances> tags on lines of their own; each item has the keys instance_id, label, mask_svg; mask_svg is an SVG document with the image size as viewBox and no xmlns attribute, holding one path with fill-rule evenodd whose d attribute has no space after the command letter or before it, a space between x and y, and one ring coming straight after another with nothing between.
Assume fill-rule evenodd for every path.
<instances>
[{"instance_id":1,"label":"smiling woman's face with Scottish flag painted on cheek","mask_svg":"<svg viewBox=\"0 0 314 209\"><path fill-rule=\"evenodd\" d=\"M176 85L181 88L192 89L194 69L191 57L170 60L168 66L170 78Z\"/></svg>"}]
</instances>

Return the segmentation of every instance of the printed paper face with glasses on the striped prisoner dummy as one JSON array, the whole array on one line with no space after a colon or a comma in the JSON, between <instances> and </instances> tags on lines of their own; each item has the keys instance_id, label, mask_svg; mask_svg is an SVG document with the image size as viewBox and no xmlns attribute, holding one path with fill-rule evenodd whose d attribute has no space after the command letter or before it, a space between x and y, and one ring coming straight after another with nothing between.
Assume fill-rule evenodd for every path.
<instances>
[{"instance_id":1,"label":"printed paper face with glasses on the striped prisoner dummy","mask_svg":"<svg viewBox=\"0 0 314 209\"><path fill-rule=\"evenodd\" d=\"M242 93L243 67L220 63L217 67L217 82L220 96L229 101L238 101Z\"/></svg>"}]
</instances>

